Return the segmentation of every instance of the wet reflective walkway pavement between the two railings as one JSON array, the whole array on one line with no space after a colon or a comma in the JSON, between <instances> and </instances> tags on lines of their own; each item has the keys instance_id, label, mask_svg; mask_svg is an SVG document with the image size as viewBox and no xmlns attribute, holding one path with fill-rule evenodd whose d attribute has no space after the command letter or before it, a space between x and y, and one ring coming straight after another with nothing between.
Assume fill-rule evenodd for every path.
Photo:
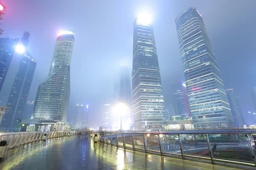
<instances>
[{"instance_id":1,"label":"wet reflective walkway pavement between the two railings","mask_svg":"<svg viewBox=\"0 0 256 170\"><path fill-rule=\"evenodd\" d=\"M1 170L237 170L94 143L90 136L70 136L11 149Z\"/></svg>"}]
</instances>

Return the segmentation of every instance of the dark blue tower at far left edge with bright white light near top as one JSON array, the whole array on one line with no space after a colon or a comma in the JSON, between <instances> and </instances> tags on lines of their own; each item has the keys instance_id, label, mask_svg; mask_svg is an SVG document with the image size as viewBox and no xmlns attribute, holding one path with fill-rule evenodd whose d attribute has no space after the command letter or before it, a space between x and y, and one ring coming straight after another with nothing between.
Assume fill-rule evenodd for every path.
<instances>
[{"instance_id":1,"label":"dark blue tower at far left edge with bright white light near top","mask_svg":"<svg viewBox=\"0 0 256 170\"><path fill-rule=\"evenodd\" d=\"M0 38L0 46L0 101L1 105L10 107L6 109L0 129L12 131L17 130L17 120L22 119L36 62L22 38Z\"/></svg>"}]
</instances>

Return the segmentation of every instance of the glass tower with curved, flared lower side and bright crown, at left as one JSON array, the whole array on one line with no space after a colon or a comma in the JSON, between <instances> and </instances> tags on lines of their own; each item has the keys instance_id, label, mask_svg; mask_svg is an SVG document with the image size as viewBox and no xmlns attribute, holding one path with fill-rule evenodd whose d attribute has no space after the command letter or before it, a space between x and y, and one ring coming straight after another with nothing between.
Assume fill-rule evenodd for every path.
<instances>
[{"instance_id":1,"label":"glass tower with curved, flared lower side and bright crown, at left","mask_svg":"<svg viewBox=\"0 0 256 170\"><path fill-rule=\"evenodd\" d=\"M75 31L58 34L49 74L38 86L33 118L67 121L74 41Z\"/></svg>"}]
</instances>

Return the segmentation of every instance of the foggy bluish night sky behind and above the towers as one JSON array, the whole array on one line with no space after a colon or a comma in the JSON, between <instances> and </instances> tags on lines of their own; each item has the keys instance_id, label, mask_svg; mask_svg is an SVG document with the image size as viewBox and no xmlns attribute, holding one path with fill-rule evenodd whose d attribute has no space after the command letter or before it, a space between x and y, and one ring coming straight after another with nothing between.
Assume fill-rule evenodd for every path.
<instances>
[{"instance_id":1,"label":"foggy bluish night sky behind and above the towers","mask_svg":"<svg viewBox=\"0 0 256 170\"><path fill-rule=\"evenodd\" d=\"M187 8L202 14L225 88L233 88L247 124L256 123L250 90L256 86L255 0L2 0L7 7L0 37L29 31L28 50L37 62L28 100L35 100L49 72L58 31L76 31L71 60L69 112L89 105L90 125L101 126L103 105L113 102L120 65L132 66L133 23L151 14L165 104L170 84L184 81L175 18ZM131 69L130 69L131 71ZM249 114L248 111L251 111Z\"/></svg>"}]
</instances>

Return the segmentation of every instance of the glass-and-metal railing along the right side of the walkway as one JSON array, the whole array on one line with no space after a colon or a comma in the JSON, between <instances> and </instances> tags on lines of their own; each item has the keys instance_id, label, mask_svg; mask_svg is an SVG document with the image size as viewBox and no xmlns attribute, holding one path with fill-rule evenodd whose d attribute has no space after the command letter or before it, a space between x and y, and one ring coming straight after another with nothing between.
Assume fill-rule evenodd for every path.
<instances>
[{"instance_id":1,"label":"glass-and-metal railing along the right side of the walkway","mask_svg":"<svg viewBox=\"0 0 256 170\"><path fill-rule=\"evenodd\" d=\"M175 158L177 158L177 156L178 156L182 159L193 159L193 160L197 160L197 161L208 160L207 162L211 162L212 164L216 164L216 163L221 164L221 162L225 162L228 164L232 164L233 166L236 166L236 167L238 165L240 167L244 167L244 166L245 167L256 167L256 157L255 157L256 151L253 149L252 144L251 144L253 136L256 135L256 130L239 129L237 132L235 132L234 130L238 130L238 129L225 129L222 132L220 132L220 131L214 132L215 130L207 130L208 131L207 133L202 133L202 130L191 130L194 133L192 133L190 130L180 130L179 132L175 132L175 133L173 133L173 131L160 131L160 132L98 131L98 132L94 132L94 133L97 133L99 135L99 142L102 142L105 144L110 144L110 145L116 146L116 147L122 147L122 148L128 149L128 150L135 150L135 151L140 151L140 152L143 151L145 153L149 152L149 153L154 153L154 154L158 154L161 156L169 156L169 157L175 157ZM165 141L167 144L166 145L164 143L164 141L162 140L163 135L165 135L164 137L167 137L167 135L174 135L174 134L177 134L178 138L177 139L167 139ZM191 136L191 134L194 134L195 141L191 142L188 140L185 142L184 139L182 139L181 134L183 134L183 135L188 134L190 136ZM203 142L202 141L196 142L196 139L199 140L198 139L199 136L197 136L196 134L201 134L200 138L203 138ZM215 139L213 142L211 142L213 140L211 138L212 134L222 134L224 136L230 135L230 137L232 139L231 138L230 139L222 139L222 140L227 140L227 142L225 142L225 141L220 141L220 142L217 141L216 142L216 139ZM151 142L153 143L153 144L151 143L152 144L151 147L148 147L148 144L150 143L149 139L151 139ZM240 139L240 141L239 141L239 139ZM137 143L137 141L139 141L139 143L137 145L135 145L135 143ZM142 145L141 142L144 142L144 144ZM212 148L213 148L214 144L216 144L216 146L218 146L218 152L216 152L216 150L217 150L216 147L215 147L215 151L213 151ZM244 144L247 144L246 149L244 149L245 148ZM174 151L173 151L172 145L174 148L176 146L177 149L174 149ZM193 146L195 148L195 149L191 149L190 152L193 152L194 150L200 150L200 151L202 150L202 151L207 152L207 154L205 154L205 156L199 155L199 154L196 155L193 153L189 154L189 151L187 149L189 145ZM241 145L243 145L243 146L241 146ZM171 146L170 150L163 149L164 147L169 148L169 146ZM178 148L178 146L180 148ZM230 160L230 159L218 157L218 154L220 153L219 148L231 148L231 151L233 151L233 152L236 152L236 148L243 148L243 149L239 149L239 150L243 150L243 151L246 150L246 153L250 154L250 160L252 160L252 161ZM198 151L198 152L200 152L200 151ZM212 153L212 152L214 152L214 153ZM249 156L249 155L247 155L247 156Z\"/></svg>"}]
</instances>

